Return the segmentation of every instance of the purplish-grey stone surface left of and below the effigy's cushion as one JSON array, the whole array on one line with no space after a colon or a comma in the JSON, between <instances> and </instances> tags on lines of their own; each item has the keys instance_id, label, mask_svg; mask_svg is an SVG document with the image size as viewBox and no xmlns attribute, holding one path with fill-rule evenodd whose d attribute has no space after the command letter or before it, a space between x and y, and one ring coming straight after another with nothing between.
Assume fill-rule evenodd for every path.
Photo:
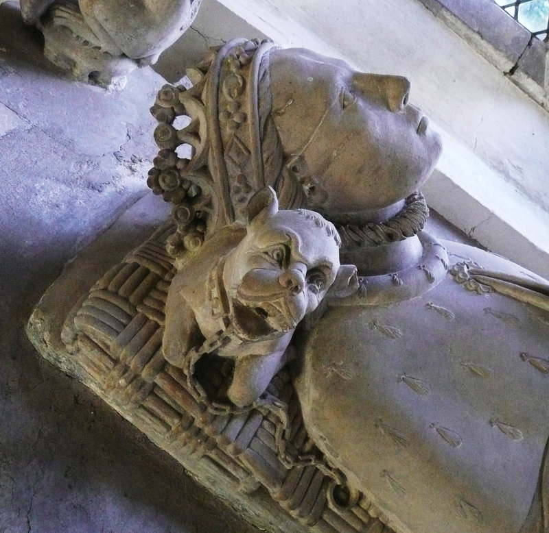
<instances>
[{"instance_id":1,"label":"purplish-grey stone surface left of and below the effigy's cushion","mask_svg":"<svg viewBox=\"0 0 549 533\"><path fill-rule=\"evenodd\" d=\"M257 531L25 336L63 265L145 192L146 110L163 81L142 69L124 97L75 83L41 39L15 3L0 5L0 530ZM148 211L134 211L108 259Z\"/></svg>"}]
</instances>

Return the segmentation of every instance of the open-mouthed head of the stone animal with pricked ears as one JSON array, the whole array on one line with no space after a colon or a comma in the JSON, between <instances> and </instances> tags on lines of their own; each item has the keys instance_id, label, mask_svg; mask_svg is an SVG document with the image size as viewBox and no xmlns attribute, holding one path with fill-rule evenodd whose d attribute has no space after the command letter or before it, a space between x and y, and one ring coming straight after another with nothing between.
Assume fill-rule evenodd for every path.
<instances>
[{"instance_id":1,"label":"open-mouthed head of the stone animal with pricked ears","mask_svg":"<svg viewBox=\"0 0 549 533\"><path fill-rule=\"evenodd\" d=\"M279 210L268 187L250 199L247 216L246 236L223 273L233 327L242 337L293 330L332 288L351 283L355 269L340 266L338 233L316 212Z\"/></svg>"}]
</instances>

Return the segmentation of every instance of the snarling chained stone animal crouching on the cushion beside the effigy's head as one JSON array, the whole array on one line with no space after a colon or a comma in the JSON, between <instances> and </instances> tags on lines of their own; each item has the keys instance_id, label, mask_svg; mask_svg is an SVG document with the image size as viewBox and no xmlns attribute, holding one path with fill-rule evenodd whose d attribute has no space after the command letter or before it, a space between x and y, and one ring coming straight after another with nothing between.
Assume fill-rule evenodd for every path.
<instances>
[{"instance_id":1,"label":"snarling chained stone animal crouching on the cushion beside the effigy's head","mask_svg":"<svg viewBox=\"0 0 549 533\"><path fill-rule=\"evenodd\" d=\"M250 200L247 214L246 227L224 228L181 266L163 339L165 358L179 367L193 347L229 339L215 354L234 362L226 396L236 406L264 393L303 317L355 282L355 267L340 266L334 226L320 215L279 210L271 188Z\"/></svg>"}]
</instances>

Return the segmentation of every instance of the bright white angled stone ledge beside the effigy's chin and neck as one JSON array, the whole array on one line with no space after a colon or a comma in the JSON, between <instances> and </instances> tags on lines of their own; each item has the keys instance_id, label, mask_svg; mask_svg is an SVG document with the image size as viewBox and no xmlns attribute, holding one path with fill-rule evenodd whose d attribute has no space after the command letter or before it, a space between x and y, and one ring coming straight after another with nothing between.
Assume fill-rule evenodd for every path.
<instances>
[{"instance_id":1,"label":"bright white angled stone ledge beside the effigy's chin and neck","mask_svg":"<svg viewBox=\"0 0 549 533\"><path fill-rule=\"evenodd\" d=\"M429 206L495 253L549 278L549 214L439 129L445 151L423 186Z\"/></svg>"}]
</instances>

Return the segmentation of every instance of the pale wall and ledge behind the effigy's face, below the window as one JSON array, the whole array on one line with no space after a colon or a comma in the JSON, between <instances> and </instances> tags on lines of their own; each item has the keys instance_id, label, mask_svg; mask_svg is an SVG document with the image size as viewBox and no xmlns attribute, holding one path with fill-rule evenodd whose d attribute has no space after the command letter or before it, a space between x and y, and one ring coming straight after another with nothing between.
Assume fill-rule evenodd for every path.
<instances>
[{"instance_id":1,"label":"pale wall and ledge behind the effigy's face, below the window","mask_svg":"<svg viewBox=\"0 0 549 533\"><path fill-rule=\"evenodd\" d=\"M446 133L439 161L444 171L428 182L441 190L438 210L465 232L478 227L476 238L484 246L549 277L548 115L493 68L482 49L471 47L418 1L386 0L379 10L375 0L350 0L338 5L338 16L329 3L308 10L305 0L279 0L276 5L267 0L213 1L285 47L312 48L348 58L366 72L408 77L412 101ZM475 5L476 0L467 3ZM277 28L284 28L284 34ZM379 32L391 37L379 39ZM202 33L211 35L207 28ZM471 173L478 179L471 179ZM459 210L453 205L456 191ZM477 212L479 201L487 214L469 219L467 213ZM483 231L490 213L494 231Z\"/></svg>"}]
</instances>

